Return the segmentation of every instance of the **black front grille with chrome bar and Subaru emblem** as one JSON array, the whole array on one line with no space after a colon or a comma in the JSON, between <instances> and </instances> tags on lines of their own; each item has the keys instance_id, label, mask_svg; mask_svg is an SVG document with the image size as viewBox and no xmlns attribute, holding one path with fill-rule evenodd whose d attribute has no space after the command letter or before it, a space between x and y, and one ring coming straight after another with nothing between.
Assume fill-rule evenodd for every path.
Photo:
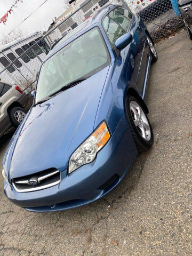
<instances>
[{"instance_id":1,"label":"black front grille with chrome bar and Subaru emblem","mask_svg":"<svg viewBox=\"0 0 192 256\"><path fill-rule=\"evenodd\" d=\"M18 192L31 192L58 185L60 180L59 170L51 168L42 172L13 179L12 184Z\"/></svg>"}]
</instances>

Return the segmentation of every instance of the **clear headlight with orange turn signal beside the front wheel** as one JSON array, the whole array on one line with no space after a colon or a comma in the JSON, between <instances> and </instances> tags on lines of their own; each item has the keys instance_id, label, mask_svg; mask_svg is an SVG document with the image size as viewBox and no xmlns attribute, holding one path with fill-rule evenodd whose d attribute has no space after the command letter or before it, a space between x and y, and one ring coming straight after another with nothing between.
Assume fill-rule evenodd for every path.
<instances>
[{"instance_id":1,"label":"clear headlight with orange turn signal beside the front wheel","mask_svg":"<svg viewBox=\"0 0 192 256\"><path fill-rule=\"evenodd\" d=\"M79 146L69 158L68 173L71 173L84 164L91 163L97 153L107 143L110 133L105 122Z\"/></svg>"}]
</instances>

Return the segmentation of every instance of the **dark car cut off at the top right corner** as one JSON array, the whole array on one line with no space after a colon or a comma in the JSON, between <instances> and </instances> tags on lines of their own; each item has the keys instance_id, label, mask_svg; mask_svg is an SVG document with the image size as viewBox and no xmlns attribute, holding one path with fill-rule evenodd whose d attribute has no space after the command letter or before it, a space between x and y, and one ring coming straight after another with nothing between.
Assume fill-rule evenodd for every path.
<instances>
[{"instance_id":1,"label":"dark car cut off at the top right corner","mask_svg":"<svg viewBox=\"0 0 192 256\"><path fill-rule=\"evenodd\" d=\"M192 2L189 0L179 0L178 5L187 30L187 34L192 40Z\"/></svg>"}]
</instances>

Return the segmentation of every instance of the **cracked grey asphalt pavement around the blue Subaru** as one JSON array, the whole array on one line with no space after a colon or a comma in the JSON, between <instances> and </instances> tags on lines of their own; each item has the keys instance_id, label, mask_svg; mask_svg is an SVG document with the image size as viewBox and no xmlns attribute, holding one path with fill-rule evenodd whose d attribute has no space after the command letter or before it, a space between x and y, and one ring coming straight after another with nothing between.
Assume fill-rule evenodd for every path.
<instances>
[{"instance_id":1,"label":"cracked grey asphalt pavement around the blue Subaru","mask_svg":"<svg viewBox=\"0 0 192 256\"><path fill-rule=\"evenodd\" d=\"M13 205L0 175L0 255L192 255L192 43L185 30L156 48L146 97L153 149L105 198L63 212ZM12 135L0 139L0 169Z\"/></svg>"}]
</instances>

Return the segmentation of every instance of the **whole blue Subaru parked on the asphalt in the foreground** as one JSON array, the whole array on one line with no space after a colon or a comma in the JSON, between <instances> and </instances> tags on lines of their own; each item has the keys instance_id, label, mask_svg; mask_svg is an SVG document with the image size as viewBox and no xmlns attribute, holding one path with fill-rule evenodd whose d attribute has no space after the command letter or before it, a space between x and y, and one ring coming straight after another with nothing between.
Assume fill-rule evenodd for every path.
<instances>
[{"instance_id":1,"label":"whole blue Subaru parked on the asphalt in the foreground","mask_svg":"<svg viewBox=\"0 0 192 256\"><path fill-rule=\"evenodd\" d=\"M106 195L154 137L145 95L157 53L139 15L100 9L63 37L39 71L33 106L3 159L5 195L33 212Z\"/></svg>"}]
</instances>

